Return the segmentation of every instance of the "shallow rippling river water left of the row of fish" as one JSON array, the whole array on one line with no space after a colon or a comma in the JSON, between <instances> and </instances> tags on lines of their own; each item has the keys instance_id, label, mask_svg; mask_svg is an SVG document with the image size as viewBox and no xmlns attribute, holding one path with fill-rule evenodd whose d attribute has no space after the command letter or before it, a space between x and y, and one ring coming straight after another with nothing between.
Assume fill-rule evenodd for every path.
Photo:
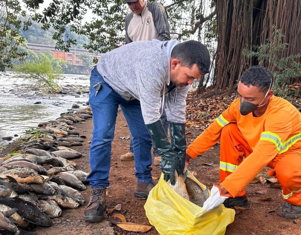
<instances>
[{"instance_id":1,"label":"shallow rippling river water left of the row of fish","mask_svg":"<svg viewBox=\"0 0 301 235\"><path fill-rule=\"evenodd\" d=\"M87 107L88 94L76 94L76 91L89 90L88 75L63 74L58 83L68 89L68 94L37 94L42 90L31 88L15 73L0 73L0 145L9 142L2 137L23 135L25 130L36 128L40 122L56 119L73 104L78 104L79 109ZM34 104L37 101L41 104Z\"/></svg>"}]
</instances>

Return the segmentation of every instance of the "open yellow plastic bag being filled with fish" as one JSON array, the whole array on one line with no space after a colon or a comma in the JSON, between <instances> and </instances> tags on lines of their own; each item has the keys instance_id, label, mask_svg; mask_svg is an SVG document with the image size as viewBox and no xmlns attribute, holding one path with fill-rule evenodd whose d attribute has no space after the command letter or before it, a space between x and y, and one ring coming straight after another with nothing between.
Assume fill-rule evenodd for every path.
<instances>
[{"instance_id":1,"label":"open yellow plastic bag being filled with fish","mask_svg":"<svg viewBox=\"0 0 301 235\"><path fill-rule=\"evenodd\" d=\"M188 176L205 190L206 186L189 171ZM235 215L233 209L225 208L223 204L208 212L186 200L169 187L163 174L149 193L144 209L160 235L223 235Z\"/></svg>"}]
</instances>

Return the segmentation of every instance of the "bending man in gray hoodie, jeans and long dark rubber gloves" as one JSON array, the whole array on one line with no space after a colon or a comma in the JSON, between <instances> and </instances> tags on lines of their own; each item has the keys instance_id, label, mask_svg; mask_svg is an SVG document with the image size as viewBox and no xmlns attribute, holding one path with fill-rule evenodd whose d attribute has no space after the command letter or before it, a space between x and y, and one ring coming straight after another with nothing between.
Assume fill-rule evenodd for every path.
<instances>
[{"instance_id":1,"label":"bending man in gray hoodie, jeans and long dark rubber gloves","mask_svg":"<svg viewBox=\"0 0 301 235\"><path fill-rule=\"evenodd\" d=\"M185 166L185 109L188 85L209 72L210 55L197 41L137 41L104 54L90 77L89 102L94 129L90 149L91 172L87 177L91 197L84 219L104 219L109 186L111 142L120 105L134 137L137 198L154 187L151 177L151 142L160 151L164 180L175 184L175 174ZM169 143L160 120L165 93ZM164 96L163 96L164 99Z\"/></svg>"}]
</instances>

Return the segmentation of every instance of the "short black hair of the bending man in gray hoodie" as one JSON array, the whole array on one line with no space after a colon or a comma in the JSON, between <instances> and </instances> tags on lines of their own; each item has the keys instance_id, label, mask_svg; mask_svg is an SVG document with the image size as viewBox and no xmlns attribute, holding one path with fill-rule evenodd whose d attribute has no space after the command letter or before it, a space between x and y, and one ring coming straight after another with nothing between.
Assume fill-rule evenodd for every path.
<instances>
[{"instance_id":1,"label":"short black hair of the bending man in gray hoodie","mask_svg":"<svg viewBox=\"0 0 301 235\"><path fill-rule=\"evenodd\" d=\"M176 45L171 52L173 59L178 59L181 66L191 68L197 64L203 73L209 73L210 54L206 46L198 41L190 40Z\"/></svg>"}]
</instances>

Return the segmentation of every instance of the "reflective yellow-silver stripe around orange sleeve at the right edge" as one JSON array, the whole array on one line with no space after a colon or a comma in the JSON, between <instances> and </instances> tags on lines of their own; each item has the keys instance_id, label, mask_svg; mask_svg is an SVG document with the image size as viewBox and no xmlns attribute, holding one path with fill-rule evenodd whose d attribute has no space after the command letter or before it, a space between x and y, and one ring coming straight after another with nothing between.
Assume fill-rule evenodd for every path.
<instances>
[{"instance_id":1,"label":"reflective yellow-silver stripe around orange sleeve at the right edge","mask_svg":"<svg viewBox=\"0 0 301 235\"><path fill-rule=\"evenodd\" d=\"M281 138L276 135L273 132L270 131L263 131L260 135L259 140L266 140L270 141L275 144L276 149L278 150L278 153L284 153L286 152L293 144L295 144L297 141L301 140L301 133L296 134L289 138L284 143L281 142Z\"/></svg>"}]
</instances>

